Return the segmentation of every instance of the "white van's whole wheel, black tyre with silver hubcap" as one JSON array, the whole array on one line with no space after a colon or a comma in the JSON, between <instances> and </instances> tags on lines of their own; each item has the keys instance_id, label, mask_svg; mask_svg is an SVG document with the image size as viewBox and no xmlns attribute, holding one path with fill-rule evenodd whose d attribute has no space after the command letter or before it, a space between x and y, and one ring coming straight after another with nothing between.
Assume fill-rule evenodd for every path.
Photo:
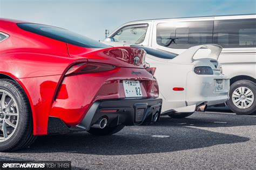
<instances>
[{"instance_id":1,"label":"white van's whole wheel, black tyre with silver hubcap","mask_svg":"<svg viewBox=\"0 0 256 170\"><path fill-rule=\"evenodd\" d=\"M256 110L256 84L248 80L234 82L230 87L228 107L238 115L250 115Z\"/></svg>"}]
</instances>

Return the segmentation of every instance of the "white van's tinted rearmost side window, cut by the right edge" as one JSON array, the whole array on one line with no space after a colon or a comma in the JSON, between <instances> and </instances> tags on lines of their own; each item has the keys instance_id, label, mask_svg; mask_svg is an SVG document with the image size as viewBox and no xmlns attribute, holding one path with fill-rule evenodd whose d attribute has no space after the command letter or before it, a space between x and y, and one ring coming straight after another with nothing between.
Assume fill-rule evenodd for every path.
<instances>
[{"instance_id":1,"label":"white van's tinted rearmost side window, cut by the right edge","mask_svg":"<svg viewBox=\"0 0 256 170\"><path fill-rule=\"evenodd\" d=\"M224 48L256 47L256 19L215 20L213 43Z\"/></svg>"}]
</instances>

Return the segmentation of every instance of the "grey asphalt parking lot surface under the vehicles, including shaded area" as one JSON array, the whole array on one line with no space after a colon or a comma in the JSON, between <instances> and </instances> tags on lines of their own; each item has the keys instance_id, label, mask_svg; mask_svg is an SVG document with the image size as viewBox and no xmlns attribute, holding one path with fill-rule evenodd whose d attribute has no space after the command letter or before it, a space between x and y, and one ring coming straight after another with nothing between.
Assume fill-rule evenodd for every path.
<instances>
[{"instance_id":1,"label":"grey asphalt parking lot surface under the vehicles, including shaded area","mask_svg":"<svg viewBox=\"0 0 256 170\"><path fill-rule=\"evenodd\" d=\"M164 116L107 137L86 132L41 136L27 150L0 153L0 159L71 160L73 168L95 169L255 169L255 141L256 116L197 112L185 119Z\"/></svg>"}]
</instances>

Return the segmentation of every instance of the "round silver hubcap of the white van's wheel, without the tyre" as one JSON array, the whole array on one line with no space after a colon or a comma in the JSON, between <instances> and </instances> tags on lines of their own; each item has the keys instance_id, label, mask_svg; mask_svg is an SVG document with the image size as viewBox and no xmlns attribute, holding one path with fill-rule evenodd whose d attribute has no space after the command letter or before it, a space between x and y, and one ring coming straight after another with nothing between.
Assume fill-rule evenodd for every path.
<instances>
[{"instance_id":1,"label":"round silver hubcap of the white van's wheel, without the tyre","mask_svg":"<svg viewBox=\"0 0 256 170\"><path fill-rule=\"evenodd\" d=\"M250 108L254 102L254 94L247 87L239 87L233 91L232 102L239 109Z\"/></svg>"}]
</instances>

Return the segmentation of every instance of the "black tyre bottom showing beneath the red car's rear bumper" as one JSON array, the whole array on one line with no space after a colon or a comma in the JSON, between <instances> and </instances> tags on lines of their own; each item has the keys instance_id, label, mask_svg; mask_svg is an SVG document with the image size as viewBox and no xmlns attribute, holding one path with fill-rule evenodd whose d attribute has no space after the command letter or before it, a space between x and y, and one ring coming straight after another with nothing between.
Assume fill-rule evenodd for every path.
<instances>
[{"instance_id":1,"label":"black tyre bottom showing beneath the red car's rear bumper","mask_svg":"<svg viewBox=\"0 0 256 170\"><path fill-rule=\"evenodd\" d=\"M97 136L106 136L119 132L124 128L124 125L117 125L114 127L106 127L104 129L90 128L89 133Z\"/></svg>"}]
</instances>

